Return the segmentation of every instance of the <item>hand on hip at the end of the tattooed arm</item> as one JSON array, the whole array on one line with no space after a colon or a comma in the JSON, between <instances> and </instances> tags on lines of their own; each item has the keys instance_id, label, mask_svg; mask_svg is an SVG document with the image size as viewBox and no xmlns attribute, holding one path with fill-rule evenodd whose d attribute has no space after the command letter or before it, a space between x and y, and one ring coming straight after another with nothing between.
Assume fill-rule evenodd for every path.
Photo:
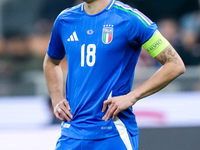
<instances>
[{"instance_id":1,"label":"hand on hip at the end of the tattooed arm","mask_svg":"<svg viewBox=\"0 0 200 150\"><path fill-rule=\"evenodd\" d=\"M133 106L136 103L136 100L131 98L129 95L123 95L118 97L112 97L108 100L105 100L103 103L102 113L108 110L106 114L103 116L104 121L108 121L111 117L115 120L116 116L119 112L128 109L129 107Z\"/></svg>"}]
</instances>

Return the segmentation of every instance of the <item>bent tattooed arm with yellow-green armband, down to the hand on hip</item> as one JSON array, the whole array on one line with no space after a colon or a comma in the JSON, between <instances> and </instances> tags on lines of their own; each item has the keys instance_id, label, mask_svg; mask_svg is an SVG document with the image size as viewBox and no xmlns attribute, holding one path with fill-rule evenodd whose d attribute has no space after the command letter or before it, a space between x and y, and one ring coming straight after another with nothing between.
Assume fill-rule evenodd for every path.
<instances>
[{"instance_id":1,"label":"bent tattooed arm with yellow-green armband, down to the hand on hip","mask_svg":"<svg viewBox=\"0 0 200 150\"><path fill-rule=\"evenodd\" d=\"M163 42L158 42L159 39ZM156 42L158 42L157 46L152 47ZM103 120L107 121L111 117L114 119L119 112L133 106L138 100L160 91L185 72L182 59L160 33L158 37L153 36L145 44L147 45L143 45L143 47L162 64L162 67L149 80L130 93L104 101L102 112L105 112L108 105L110 106L102 118Z\"/></svg>"}]
</instances>

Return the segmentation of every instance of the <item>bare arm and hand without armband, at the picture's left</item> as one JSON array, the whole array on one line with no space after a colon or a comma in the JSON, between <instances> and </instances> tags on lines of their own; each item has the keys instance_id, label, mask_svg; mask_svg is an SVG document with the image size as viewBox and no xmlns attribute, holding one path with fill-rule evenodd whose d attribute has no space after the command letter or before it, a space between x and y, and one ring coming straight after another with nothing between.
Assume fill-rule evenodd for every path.
<instances>
[{"instance_id":1,"label":"bare arm and hand without armband, at the picture's left","mask_svg":"<svg viewBox=\"0 0 200 150\"><path fill-rule=\"evenodd\" d=\"M56 118L61 121L71 121L70 106L63 97L63 74L60 62L61 60L52 59L46 54L43 70Z\"/></svg>"}]
</instances>

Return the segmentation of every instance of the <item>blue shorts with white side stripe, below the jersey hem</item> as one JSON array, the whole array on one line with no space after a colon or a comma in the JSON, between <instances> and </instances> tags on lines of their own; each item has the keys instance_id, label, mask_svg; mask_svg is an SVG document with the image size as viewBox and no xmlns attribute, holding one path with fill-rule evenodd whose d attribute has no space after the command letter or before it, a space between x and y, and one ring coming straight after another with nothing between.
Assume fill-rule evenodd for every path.
<instances>
[{"instance_id":1,"label":"blue shorts with white side stripe, below the jersey hem","mask_svg":"<svg viewBox=\"0 0 200 150\"><path fill-rule=\"evenodd\" d=\"M55 150L138 150L139 135L130 135L123 139L114 136L99 140L72 139L62 135L56 144Z\"/></svg>"}]
</instances>

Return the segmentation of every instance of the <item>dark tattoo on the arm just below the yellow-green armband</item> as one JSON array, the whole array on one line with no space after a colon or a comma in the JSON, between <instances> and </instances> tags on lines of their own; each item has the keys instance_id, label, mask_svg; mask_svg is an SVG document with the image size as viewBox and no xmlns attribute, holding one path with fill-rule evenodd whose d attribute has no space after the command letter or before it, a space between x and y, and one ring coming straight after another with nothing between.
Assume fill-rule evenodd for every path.
<instances>
[{"instance_id":1,"label":"dark tattoo on the arm just below the yellow-green armband","mask_svg":"<svg viewBox=\"0 0 200 150\"><path fill-rule=\"evenodd\" d=\"M177 52L173 51L170 47L167 47L160 54L161 54L160 55L161 64L164 64L165 62L172 62L174 64L177 64L178 62Z\"/></svg>"}]
</instances>

